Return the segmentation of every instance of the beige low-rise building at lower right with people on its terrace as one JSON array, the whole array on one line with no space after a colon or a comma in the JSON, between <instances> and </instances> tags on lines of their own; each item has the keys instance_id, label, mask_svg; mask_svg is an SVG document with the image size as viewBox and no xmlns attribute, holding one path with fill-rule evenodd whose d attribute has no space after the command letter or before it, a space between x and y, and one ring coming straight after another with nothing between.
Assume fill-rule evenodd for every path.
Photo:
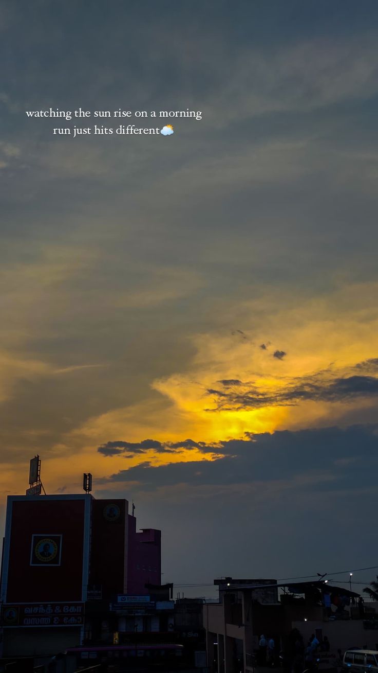
<instances>
[{"instance_id":1,"label":"beige low-rise building at lower right with people on its terrace","mask_svg":"<svg viewBox=\"0 0 378 673\"><path fill-rule=\"evenodd\" d=\"M320 642L327 636L334 660L339 648L377 648L377 622L354 618L357 615L351 602L359 594L345 588L330 586L326 581L288 585L270 579L231 577L214 583L220 588L220 600L203 606L211 673L252 673L261 635L273 637L277 656L285 649L292 629L300 631L305 644L312 633ZM366 617L372 614L369 608L365 613Z\"/></svg>"}]
</instances>

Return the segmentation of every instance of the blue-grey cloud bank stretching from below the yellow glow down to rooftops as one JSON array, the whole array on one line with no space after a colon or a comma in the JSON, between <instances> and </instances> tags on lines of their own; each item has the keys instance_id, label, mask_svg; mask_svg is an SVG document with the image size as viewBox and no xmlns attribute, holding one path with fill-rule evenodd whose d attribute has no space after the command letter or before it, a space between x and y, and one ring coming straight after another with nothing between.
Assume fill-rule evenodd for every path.
<instances>
[{"instance_id":1,"label":"blue-grey cloud bank stretching from below the yellow glow down to rooftops","mask_svg":"<svg viewBox=\"0 0 378 673\"><path fill-rule=\"evenodd\" d=\"M345 558L373 565L367 512L378 504L378 425L252 436L221 442L218 460L144 462L96 482L103 497L126 493L145 526L162 528L164 571L177 582L211 582L228 569L248 577L252 553L265 577L309 575L331 557L334 569ZM335 536L331 548L319 544Z\"/></svg>"}]
</instances>

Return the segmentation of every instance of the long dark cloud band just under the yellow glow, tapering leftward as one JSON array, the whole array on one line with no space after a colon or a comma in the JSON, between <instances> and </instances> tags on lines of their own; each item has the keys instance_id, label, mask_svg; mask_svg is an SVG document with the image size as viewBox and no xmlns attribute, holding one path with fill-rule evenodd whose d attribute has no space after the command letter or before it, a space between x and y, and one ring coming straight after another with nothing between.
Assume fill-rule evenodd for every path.
<instances>
[{"instance_id":1,"label":"long dark cloud band just under the yellow glow, tapering leftward","mask_svg":"<svg viewBox=\"0 0 378 673\"><path fill-rule=\"evenodd\" d=\"M181 446L184 444L181 443ZM199 444L199 446L201 446ZM352 488L365 483L377 488L378 425L328 427L254 434L218 445L214 460L152 466L143 462L121 470L101 483L139 483L142 489L160 486L295 483L316 491ZM371 472L374 470L374 474ZM285 486L286 487L286 486Z\"/></svg>"}]
</instances>

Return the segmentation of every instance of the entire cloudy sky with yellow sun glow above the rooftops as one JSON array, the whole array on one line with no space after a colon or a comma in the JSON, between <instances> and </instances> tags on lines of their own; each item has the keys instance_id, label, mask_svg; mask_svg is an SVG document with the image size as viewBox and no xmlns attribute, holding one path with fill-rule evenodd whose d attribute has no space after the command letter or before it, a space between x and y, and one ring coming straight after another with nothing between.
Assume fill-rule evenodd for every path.
<instances>
[{"instance_id":1,"label":"entire cloudy sky with yellow sun glow above the rooftops","mask_svg":"<svg viewBox=\"0 0 378 673\"><path fill-rule=\"evenodd\" d=\"M178 588L375 565L377 20L0 3L2 517L38 453L48 493L134 499ZM50 107L200 118L74 139Z\"/></svg>"}]
</instances>

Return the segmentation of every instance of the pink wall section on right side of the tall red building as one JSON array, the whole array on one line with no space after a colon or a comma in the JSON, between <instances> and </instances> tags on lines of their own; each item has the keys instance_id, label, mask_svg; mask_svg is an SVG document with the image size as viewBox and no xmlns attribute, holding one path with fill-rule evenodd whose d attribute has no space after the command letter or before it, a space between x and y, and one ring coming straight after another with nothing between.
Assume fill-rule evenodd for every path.
<instances>
[{"instance_id":1,"label":"pink wall section on right side of the tall red building","mask_svg":"<svg viewBox=\"0 0 378 673\"><path fill-rule=\"evenodd\" d=\"M136 531L136 518L128 515L128 594L146 596L146 584L161 583L161 531Z\"/></svg>"}]
</instances>

